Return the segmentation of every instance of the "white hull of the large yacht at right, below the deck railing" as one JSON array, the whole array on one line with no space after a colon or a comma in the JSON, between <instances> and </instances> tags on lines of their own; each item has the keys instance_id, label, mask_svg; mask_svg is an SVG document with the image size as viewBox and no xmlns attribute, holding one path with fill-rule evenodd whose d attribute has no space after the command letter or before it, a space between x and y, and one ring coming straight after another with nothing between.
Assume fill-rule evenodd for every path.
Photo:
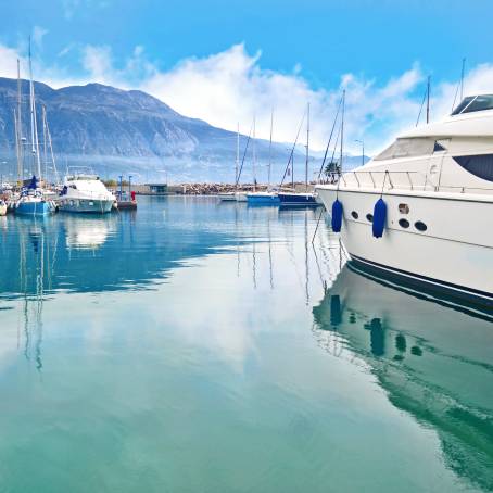
<instances>
[{"instance_id":1,"label":"white hull of the large yacht at right, below the deck railing","mask_svg":"<svg viewBox=\"0 0 493 493\"><path fill-rule=\"evenodd\" d=\"M318 193L330 212L336 188L319 188ZM385 193L385 229L382 238L374 238L367 216L380 193L340 189L338 198L343 205L341 238L353 265L493 309L492 202Z\"/></svg>"}]
</instances>

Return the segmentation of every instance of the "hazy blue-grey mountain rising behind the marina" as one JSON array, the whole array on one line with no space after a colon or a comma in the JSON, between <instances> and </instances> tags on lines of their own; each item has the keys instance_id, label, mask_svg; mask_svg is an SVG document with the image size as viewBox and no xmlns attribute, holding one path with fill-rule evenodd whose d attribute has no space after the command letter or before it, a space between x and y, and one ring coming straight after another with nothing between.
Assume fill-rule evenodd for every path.
<instances>
[{"instance_id":1,"label":"hazy blue-grey mountain rising behind the marina","mask_svg":"<svg viewBox=\"0 0 493 493\"><path fill-rule=\"evenodd\" d=\"M15 130L17 81L0 78L0 159L3 174L16 173ZM46 106L59 170L67 166L90 166L106 177L132 174L139 181L233 181L235 132L206 122L182 116L167 104L138 90L122 90L101 84L53 89L35 83L38 134L42 154L41 108ZM22 80L22 135L30 141L29 85ZM246 137L240 136L240 159ZM266 179L268 142L256 140L258 181ZM25 146L28 148L28 146ZM286 143L273 144L273 177L280 180L288 160ZM242 180L252 180L252 142ZM30 173L33 154L26 149L25 168ZM296 150L296 179L304 177L303 150ZM359 164L361 157L346 160ZM4 164L7 161L7 164ZM353 163L354 161L354 163ZM311 174L319 168L320 156L311 161ZM276 179L277 178L277 179Z\"/></svg>"}]
</instances>

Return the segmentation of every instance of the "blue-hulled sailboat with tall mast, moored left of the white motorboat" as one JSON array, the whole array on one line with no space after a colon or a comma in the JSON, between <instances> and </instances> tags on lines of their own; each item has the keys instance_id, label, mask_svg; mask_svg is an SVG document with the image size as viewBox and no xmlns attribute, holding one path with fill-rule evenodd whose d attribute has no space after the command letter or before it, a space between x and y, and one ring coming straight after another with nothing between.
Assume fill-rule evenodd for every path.
<instances>
[{"instance_id":1,"label":"blue-hulled sailboat with tall mast, moored left of the white motorboat","mask_svg":"<svg viewBox=\"0 0 493 493\"><path fill-rule=\"evenodd\" d=\"M17 61L17 79L21 79L21 69ZM21 84L17 84L17 90L21 90ZM18 100L21 96L18 94ZM38 141L38 128L36 118L36 98L33 81L33 66L30 60L30 39L29 39L29 110L30 110L30 137L31 137L31 153L34 167L36 173L33 175L27 187L23 187L21 190L21 197L14 204L15 214L28 215L28 216L45 216L52 214L56 211L56 206L52 200L46 197L45 190L40 187L41 181L41 161L39 156L39 141ZM16 141L17 141L17 160L23 166L22 162L22 127L21 127L21 111L16 113L15 121L16 128ZM22 167L23 169L23 167Z\"/></svg>"}]
</instances>

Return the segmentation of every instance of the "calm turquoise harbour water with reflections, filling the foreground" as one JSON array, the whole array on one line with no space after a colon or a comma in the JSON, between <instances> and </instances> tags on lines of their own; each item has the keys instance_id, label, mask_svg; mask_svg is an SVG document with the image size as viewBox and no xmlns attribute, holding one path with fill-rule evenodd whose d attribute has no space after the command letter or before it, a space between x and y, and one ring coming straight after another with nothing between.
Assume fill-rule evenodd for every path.
<instances>
[{"instance_id":1,"label":"calm turquoise harbour water with reflections, filling the foreground","mask_svg":"<svg viewBox=\"0 0 493 493\"><path fill-rule=\"evenodd\" d=\"M493 491L493 324L317 218L0 218L0 491Z\"/></svg>"}]
</instances>

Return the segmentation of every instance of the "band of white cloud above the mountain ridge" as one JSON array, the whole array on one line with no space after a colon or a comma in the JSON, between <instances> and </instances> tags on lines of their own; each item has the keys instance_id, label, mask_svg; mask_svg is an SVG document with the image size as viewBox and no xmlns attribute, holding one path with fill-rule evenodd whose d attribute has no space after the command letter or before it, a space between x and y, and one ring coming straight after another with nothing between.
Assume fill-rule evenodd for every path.
<instances>
[{"instance_id":1,"label":"band of white cloud above the mountain ridge","mask_svg":"<svg viewBox=\"0 0 493 493\"><path fill-rule=\"evenodd\" d=\"M42 40L43 30L39 30ZM98 81L123 89L142 89L179 113L202 118L218 127L248 132L256 116L257 136L268 138L270 110L275 112L274 139L293 140L299 122L311 103L312 146L324 149L343 88L346 89L345 146L358 153L355 139L364 139L368 153L375 153L400 131L413 126L421 104L425 76L418 64L390 80L366 79L344 74L338 87L314 89L295 64L291 73L261 66L262 53L249 54L243 45L206 58L185 59L163 71L147 56L142 46L115 63L109 46L71 46L72 56L80 53L79 75L74 77L59 65L43 66L34 59L35 78L53 87ZM0 75L16 76L17 50L0 45ZM62 50L58 58L67 51ZM26 67L25 60L22 59ZM23 73L26 74L25 68ZM452 108L456 81L432 81L432 119ZM465 80L466 93L493 89L493 64L471 68ZM304 139L304 137L303 137Z\"/></svg>"}]
</instances>

